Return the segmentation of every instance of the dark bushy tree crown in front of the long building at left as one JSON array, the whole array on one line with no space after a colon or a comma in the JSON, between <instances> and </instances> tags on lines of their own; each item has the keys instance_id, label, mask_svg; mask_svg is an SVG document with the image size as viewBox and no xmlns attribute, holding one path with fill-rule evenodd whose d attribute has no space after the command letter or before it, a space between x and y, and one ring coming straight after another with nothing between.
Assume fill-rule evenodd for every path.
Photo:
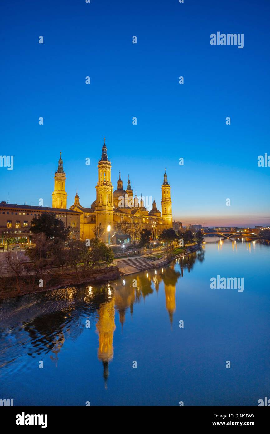
<instances>
[{"instance_id":1,"label":"dark bushy tree crown in front of the long building at left","mask_svg":"<svg viewBox=\"0 0 270 434\"><path fill-rule=\"evenodd\" d=\"M70 228L65 228L62 220L55 217L54 213L43 213L39 217L35 216L30 227L33 233L45 233L47 238L58 237L62 240L68 239Z\"/></svg>"}]
</instances>

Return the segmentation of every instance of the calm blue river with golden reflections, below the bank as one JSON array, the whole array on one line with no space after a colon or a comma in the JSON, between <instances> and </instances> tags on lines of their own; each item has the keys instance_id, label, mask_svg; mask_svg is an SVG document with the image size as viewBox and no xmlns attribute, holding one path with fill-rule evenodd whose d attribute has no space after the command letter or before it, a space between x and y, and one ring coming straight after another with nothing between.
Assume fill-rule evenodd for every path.
<instances>
[{"instance_id":1,"label":"calm blue river with golden reflections, below the bank","mask_svg":"<svg viewBox=\"0 0 270 434\"><path fill-rule=\"evenodd\" d=\"M270 394L269 262L270 247L258 242L206 243L182 271L176 261L125 282L2 302L0 398L257 405ZM244 291L210 289L218 274L244 277Z\"/></svg>"}]
</instances>

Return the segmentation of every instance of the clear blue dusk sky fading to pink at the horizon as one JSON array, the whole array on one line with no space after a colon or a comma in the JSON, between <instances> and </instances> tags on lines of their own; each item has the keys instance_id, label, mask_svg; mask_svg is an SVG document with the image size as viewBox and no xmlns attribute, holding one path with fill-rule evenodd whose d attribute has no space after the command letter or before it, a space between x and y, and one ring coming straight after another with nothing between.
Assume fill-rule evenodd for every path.
<instances>
[{"instance_id":1,"label":"clear blue dusk sky fading to pink at the horizon","mask_svg":"<svg viewBox=\"0 0 270 434\"><path fill-rule=\"evenodd\" d=\"M183 225L270 224L268 0L15 0L0 16L0 154L14 161L0 201L52 206L62 151L67 206L78 188L90 207L105 137L114 188L129 174L161 210L166 167ZM211 45L218 31L244 48Z\"/></svg>"}]
</instances>

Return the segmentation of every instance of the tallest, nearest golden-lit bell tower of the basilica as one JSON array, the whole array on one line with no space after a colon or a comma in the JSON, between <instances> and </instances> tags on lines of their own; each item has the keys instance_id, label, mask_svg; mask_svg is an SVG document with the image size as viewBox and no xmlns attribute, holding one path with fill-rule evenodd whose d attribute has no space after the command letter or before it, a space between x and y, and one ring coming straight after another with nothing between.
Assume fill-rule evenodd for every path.
<instances>
[{"instance_id":1,"label":"tallest, nearest golden-lit bell tower of the basilica","mask_svg":"<svg viewBox=\"0 0 270 434\"><path fill-rule=\"evenodd\" d=\"M107 227L113 225L113 188L111 184L111 161L108 160L104 137L101 159L98 161L97 202L95 209L96 225L104 228L102 235L104 242L109 241Z\"/></svg>"}]
</instances>

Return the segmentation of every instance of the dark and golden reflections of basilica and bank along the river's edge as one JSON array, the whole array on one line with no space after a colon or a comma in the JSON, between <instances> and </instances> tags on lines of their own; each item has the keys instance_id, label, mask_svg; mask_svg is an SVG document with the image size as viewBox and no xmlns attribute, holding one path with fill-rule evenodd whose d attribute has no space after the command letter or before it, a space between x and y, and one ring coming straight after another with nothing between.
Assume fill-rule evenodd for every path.
<instances>
[{"instance_id":1,"label":"dark and golden reflections of basilica and bank along the river's edge","mask_svg":"<svg viewBox=\"0 0 270 434\"><path fill-rule=\"evenodd\" d=\"M123 329L125 316L146 297L158 294L162 284L165 307L172 326L176 310L176 283L198 260L204 250L176 259L167 267L125 276L102 286L63 288L11 299L0 304L0 368L11 369L14 362L28 357L49 354L57 367L68 340L75 341L87 330L85 324L95 323L98 335L98 360L103 364L105 387L109 363L114 357L115 315L118 312ZM177 266L178 270L175 270Z\"/></svg>"}]
</instances>

